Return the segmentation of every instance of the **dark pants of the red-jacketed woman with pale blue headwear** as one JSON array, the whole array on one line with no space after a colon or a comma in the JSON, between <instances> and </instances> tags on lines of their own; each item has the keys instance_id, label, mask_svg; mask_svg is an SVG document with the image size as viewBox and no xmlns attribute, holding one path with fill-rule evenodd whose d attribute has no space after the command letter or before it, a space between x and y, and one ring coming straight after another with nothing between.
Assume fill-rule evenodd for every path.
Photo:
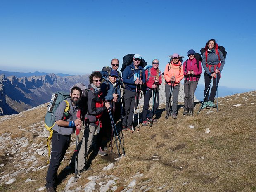
<instances>
[{"instance_id":1,"label":"dark pants of the red-jacketed woman with pale blue headwear","mask_svg":"<svg viewBox=\"0 0 256 192\"><path fill-rule=\"evenodd\" d=\"M149 109L149 102L150 102L151 97L154 100L154 105L153 105L153 114L152 114L152 110L149 113L150 119L151 119L151 116L153 118L153 116L156 113L156 110L159 106L159 92L156 92L155 99L153 98L154 95L152 95L152 93L154 94L154 92L152 90L147 90L146 94L144 95L144 105L143 105L143 111L142 111L142 122L147 121L147 111Z\"/></svg>"}]
</instances>

